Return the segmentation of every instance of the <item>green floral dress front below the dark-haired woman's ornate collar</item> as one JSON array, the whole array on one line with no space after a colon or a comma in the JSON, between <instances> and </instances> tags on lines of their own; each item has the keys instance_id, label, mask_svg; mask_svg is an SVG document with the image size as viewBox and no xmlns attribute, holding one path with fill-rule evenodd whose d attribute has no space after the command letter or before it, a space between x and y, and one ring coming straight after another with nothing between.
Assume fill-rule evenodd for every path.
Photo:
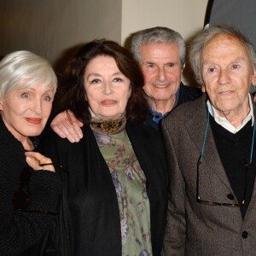
<instances>
[{"instance_id":1,"label":"green floral dress front below the dark-haired woman's ornate collar","mask_svg":"<svg viewBox=\"0 0 256 256\"><path fill-rule=\"evenodd\" d=\"M150 208L146 177L126 131L106 134L93 130L115 187L122 235L122 255L152 255Z\"/></svg>"}]
</instances>

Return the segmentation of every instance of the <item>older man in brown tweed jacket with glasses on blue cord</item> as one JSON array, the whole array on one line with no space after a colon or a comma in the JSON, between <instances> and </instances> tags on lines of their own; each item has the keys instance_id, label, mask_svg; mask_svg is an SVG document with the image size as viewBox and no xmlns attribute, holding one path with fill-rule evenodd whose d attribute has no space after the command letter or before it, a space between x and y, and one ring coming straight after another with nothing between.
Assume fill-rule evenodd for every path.
<instances>
[{"instance_id":1,"label":"older man in brown tweed jacket with glasses on blue cord","mask_svg":"<svg viewBox=\"0 0 256 256\"><path fill-rule=\"evenodd\" d=\"M169 203L163 255L255 255L253 44L212 26L189 59L205 95L163 120Z\"/></svg>"}]
</instances>

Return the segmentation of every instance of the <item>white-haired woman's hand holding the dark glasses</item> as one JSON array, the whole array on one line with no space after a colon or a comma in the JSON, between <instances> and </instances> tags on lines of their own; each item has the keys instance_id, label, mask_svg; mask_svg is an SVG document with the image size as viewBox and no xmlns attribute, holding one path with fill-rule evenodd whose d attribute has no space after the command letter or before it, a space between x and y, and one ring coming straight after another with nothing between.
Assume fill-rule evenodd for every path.
<instances>
[{"instance_id":1,"label":"white-haired woman's hand holding the dark glasses","mask_svg":"<svg viewBox=\"0 0 256 256\"><path fill-rule=\"evenodd\" d=\"M55 167L52 165L52 161L38 152L26 152L26 163L36 170L47 170L49 172L55 172ZM49 164L49 165L45 165ZM44 165L44 166L41 166Z\"/></svg>"}]
</instances>

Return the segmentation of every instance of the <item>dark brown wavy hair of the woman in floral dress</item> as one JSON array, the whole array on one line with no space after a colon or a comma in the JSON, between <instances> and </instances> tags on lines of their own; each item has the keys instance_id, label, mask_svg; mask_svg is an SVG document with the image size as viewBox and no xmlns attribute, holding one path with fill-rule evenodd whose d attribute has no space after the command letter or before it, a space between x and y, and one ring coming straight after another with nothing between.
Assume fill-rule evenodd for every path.
<instances>
[{"instance_id":1,"label":"dark brown wavy hair of the woman in floral dress","mask_svg":"<svg viewBox=\"0 0 256 256\"><path fill-rule=\"evenodd\" d=\"M61 108L70 109L84 123L90 122L89 104L85 100L84 72L88 63L98 55L113 57L119 71L131 81L131 96L126 106L126 118L143 121L148 113L148 102L143 96L143 73L130 51L106 39L94 40L73 56L61 88Z\"/></svg>"}]
</instances>

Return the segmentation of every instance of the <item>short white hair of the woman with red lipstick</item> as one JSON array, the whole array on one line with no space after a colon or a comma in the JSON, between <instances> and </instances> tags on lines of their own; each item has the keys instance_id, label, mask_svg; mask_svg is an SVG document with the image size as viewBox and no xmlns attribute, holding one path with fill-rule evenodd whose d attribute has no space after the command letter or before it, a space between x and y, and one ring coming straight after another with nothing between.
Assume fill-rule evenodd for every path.
<instances>
[{"instance_id":1,"label":"short white hair of the woman with red lipstick","mask_svg":"<svg viewBox=\"0 0 256 256\"><path fill-rule=\"evenodd\" d=\"M57 78L49 61L27 50L6 55L0 61L0 100L15 88L29 88L35 84L57 89Z\"/></svg>"}]
</instances>

